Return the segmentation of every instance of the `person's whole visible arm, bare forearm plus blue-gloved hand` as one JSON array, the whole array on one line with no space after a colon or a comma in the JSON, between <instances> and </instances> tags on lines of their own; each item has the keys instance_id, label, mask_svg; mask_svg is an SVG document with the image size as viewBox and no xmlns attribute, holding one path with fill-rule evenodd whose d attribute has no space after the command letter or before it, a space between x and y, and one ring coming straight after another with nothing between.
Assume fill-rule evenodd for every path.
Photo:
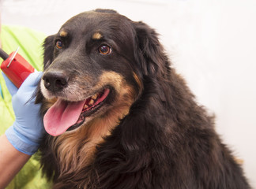
<instances>
[{"instance_id":1,"label":"person's whole visible arm, bare forearm plus blue-gloved hand","mask_svg":"<svg viewBox=\"0 0 256 189\"><path fill-rule=\"evenodd\" d=\"M6 185L21 170L40 145L43 121L40 117L40 104L35 104L35 90L42 72L28 76L17 89L4 75L6 86L12 97L15 121L0 138L0 188ZM1 125L0 125L1 126Z\"/></svg>"}]
</instances>

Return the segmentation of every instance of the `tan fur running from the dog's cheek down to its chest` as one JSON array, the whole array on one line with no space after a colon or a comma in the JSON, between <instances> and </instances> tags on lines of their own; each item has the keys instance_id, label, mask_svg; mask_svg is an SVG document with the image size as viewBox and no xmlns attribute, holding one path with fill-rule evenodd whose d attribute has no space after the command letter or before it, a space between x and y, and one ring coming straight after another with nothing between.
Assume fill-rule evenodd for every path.
<instances>
[{"instance_id":1,"label":"tan fur running from the dog's cheek down to its chest","mask_svg":"<svg viewBox=\"0 0 256 189\"><path fill-rule=\"evenodd\" d=\"M96 145L104 142L104 137L111 134L119 121L129 113L135 99L135 91L116 72L104 72L96 88L111 83L115 87L115 100L104 113L92 117L80 128L55 138L52 148L58 153L61 176L79 169L92 162ZM89 118L89 117L88 117ZM87 118L85 118L87 119Z\"/></svg>"}]
</instances>

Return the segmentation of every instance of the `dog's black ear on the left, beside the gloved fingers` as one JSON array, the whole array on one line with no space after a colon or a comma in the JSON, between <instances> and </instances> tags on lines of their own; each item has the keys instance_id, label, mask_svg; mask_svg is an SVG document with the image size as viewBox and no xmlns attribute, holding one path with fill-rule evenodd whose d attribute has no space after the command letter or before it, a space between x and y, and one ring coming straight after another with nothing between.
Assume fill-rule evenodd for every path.
<instances>
[{"instance_id":1,"label":"dog's black ear on the left, beside the gloved fingers","mask_svg":"<svg viewBox=\"0 0 256 189\"><path fill-rule=\"evenodd\" d=\"M49 65L51 65L51 62L54 58L54 52L55 52L55 35L48 36L43 43L43 69L47 69Z\"/></svg>"}]
</instances>

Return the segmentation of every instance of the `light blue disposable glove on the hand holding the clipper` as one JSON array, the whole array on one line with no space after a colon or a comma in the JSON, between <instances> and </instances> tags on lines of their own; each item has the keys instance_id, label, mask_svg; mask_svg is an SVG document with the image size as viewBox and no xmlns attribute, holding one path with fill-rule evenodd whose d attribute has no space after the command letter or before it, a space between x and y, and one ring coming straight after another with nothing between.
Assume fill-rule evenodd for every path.
<instances>
[{"instance_id":1,"label":"light blue disposable glove on the hand holding the clipper","mask_svg":"<svg viewBox=\"0 0 256 189\"><path fill-rule=\"evenodd\" d=\"M35 104L34 96L42 75L42 72L37 71L31 73L19 89L4 75L8 90L13 96L13 110L16 117L13 125L6 130L6 137L17 150L28 155L38 150L45 132L40 117L41 104Z\"/></svg>"}]
</instances>

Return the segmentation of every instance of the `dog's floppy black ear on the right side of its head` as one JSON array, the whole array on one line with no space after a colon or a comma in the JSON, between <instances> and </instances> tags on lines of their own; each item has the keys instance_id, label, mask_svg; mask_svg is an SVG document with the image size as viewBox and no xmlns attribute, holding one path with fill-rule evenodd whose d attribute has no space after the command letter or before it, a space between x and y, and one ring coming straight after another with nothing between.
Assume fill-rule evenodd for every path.
<instances>
[{"instance_id":1,"label":"dog's floppy black ear on the right side of its head","mask_svg":"<svg viewBox=\"0 0 256 189\"><path fill-rule=\"evenodd\" d=\"M135 58L145 76L156 76L163 73L167 64L164 48L160 44L158 34L147 24L135 22L137 48Z\"/></svg>"}]
</instances>

